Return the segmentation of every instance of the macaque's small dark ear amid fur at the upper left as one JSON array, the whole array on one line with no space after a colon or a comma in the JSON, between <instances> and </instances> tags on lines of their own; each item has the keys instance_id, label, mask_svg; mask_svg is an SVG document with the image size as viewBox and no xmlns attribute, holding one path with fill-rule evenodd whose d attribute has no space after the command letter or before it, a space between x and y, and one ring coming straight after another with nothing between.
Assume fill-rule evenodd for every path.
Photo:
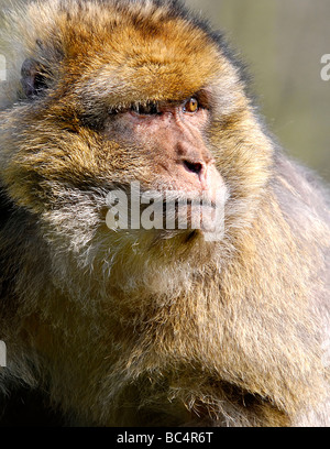
<instances>
[{"instance_id":1,"label":"macaque's small dark ear amid fur at the upper left","mask_svg":"<svg viewBox=\"0 0 330 449\"><path fill-rule=\"evenodd\" d=\"M25 59L21 75L23 91L28 98L35 97L47 88L45 68L37 61L33 58Z\"/></svg>"}]
</instances>

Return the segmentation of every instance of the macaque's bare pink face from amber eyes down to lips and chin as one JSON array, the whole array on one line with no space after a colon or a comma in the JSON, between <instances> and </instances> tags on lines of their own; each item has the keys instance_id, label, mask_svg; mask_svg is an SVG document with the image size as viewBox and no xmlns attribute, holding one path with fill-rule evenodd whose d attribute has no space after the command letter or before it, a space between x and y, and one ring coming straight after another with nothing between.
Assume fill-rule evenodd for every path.
<instances>
[{"instance_id":1,"label":"macaque's bare pink face from amber eyes down to lips and chin","mask_svg":"<svg viewBox=\"0 0 330 449\"><path fill-rule=\"evenodd\" d=\"M120 147L134 142L134 151L148 173L144 182L148 195L156 190L153 213L158 206L160 217L155 227L165 231L178 228L179 219L182 229L191 229L195 225L195 229L211 230L210 221L216 220L217 208L224 207L227 188L205 142L209 110L202 107L201 99L199 95L184 102L138 103L110 117L103 130L108 138L118 135ZM132 201L131 208L134 207ZM184 208L180 207L183 201ZM170 226L163 212L175 215ZM193 223L198 215L201 220ZM163 236L168 237L168 232Z\"/></svg>"}]
</instances>

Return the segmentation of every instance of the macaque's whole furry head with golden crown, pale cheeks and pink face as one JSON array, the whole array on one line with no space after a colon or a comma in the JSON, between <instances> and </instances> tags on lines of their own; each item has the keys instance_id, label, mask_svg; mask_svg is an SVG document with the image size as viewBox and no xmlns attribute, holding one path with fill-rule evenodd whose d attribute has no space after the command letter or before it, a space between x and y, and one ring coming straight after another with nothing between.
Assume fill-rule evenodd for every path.
<instances>
[{"instance_id":1,"label":"macaque's whole furry head with golden crown, pale cheeks and pink face","mask_svg":"<svg viewBox=\"0 0 330 449\"><path fill-rule=\"evenodd\" d=\"M4 161L11 197L75 251L97 239L97 248L118 251L138 242L143 254L163 240L190 251L191 236L205 241L219 208L232 239L257 208L271 143L222 41L170 3L54 8L50 28L33 31L34 57L21 74L25 100L9 121L20 130ZM162 194L163 207L168 191L188 201L187 227L178 229L175 206L169 229L164 217L158 229L109 229L107 197L129 195L132 183L142 195ZM201 197L194 208L191 198Z\"/></svg>"}]
</instances>

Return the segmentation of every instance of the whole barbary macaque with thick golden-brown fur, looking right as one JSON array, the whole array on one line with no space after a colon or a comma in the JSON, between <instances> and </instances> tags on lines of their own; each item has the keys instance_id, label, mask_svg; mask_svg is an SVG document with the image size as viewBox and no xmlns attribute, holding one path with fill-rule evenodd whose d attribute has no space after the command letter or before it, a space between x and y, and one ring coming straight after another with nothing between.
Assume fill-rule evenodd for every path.
<instances>
[{"instance_id":1,"label":"whole barbary macaque with thick golden-brown fur, looking right","mask_svg":"<svg viewBox=\"0 0 330 449\"><path fill-rule=\"evenodd\" d=\"M0 43L2 421L23 391L69 426L330 425L329 195L224 39L177 1L47 0Z\"/></svg>"}]
</instances>

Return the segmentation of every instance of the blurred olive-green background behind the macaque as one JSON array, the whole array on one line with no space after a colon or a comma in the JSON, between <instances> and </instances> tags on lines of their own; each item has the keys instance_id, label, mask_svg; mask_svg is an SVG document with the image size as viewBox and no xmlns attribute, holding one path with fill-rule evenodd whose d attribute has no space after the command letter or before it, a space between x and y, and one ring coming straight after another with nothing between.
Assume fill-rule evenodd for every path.
<instances>
[{"instance_id":1,"label":"blurred olive-green background behind the macaque","mask_svg":"<svg viewBox=\"0 0 330 449\"><path fill-rule=\"evenodd\" d=\"M22 0L24 2L26 0ZM16 0L0 0L0 8ZM186 0L250 67L270 130L294 157L330 180L330 0ZM1 26L1 21L0 21Z\"/></svg>"}]
</instances>

